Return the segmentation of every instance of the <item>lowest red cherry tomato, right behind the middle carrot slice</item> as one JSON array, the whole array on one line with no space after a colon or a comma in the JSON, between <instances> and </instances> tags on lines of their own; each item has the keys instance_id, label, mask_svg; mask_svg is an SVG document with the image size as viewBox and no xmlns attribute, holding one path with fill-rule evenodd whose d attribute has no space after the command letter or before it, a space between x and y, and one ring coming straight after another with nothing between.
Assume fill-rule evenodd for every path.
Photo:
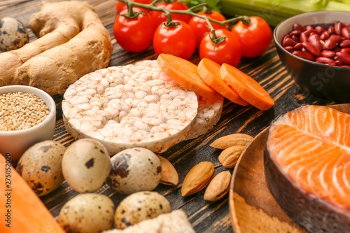
<instances>
[{"instance_id":1,"label":"lowest red cherry tomato, right behind the middle carrot slice","mask_svg":"<svg viewBox=\"0 0 350 233\"><path fill-rule=\"evenodd\" d=\"M212 34L204 36L200 43L200 58L208 58L218 64L227 63L232 66L237 66L241 60L241 43L239 38L225 29L216 29L216 36L225 36L225 41L215 46L211 41Z\"/></svg>"}]
</instances>

